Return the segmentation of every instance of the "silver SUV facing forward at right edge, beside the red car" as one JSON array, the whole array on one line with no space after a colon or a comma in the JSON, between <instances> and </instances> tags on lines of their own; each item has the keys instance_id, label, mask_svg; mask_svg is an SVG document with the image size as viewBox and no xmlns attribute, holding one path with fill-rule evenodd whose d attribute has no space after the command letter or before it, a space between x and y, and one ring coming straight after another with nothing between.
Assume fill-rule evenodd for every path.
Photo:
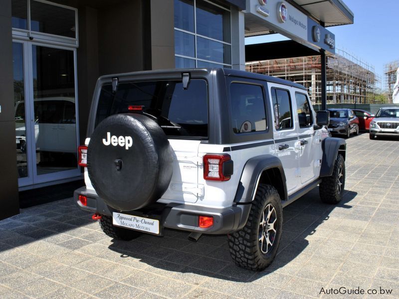
<instances>
[{"instance_id":1,"label":"silver SUV facing forward at right edge, beside the red car","mask_svg":"<svg viewBox=\"0 0 399 299\"><path fill-rule=\"evenodd\" d=\"M370 139L376 136L399 137L399 107L384 107L370 124Z\"/></svg>"}]
</instances>

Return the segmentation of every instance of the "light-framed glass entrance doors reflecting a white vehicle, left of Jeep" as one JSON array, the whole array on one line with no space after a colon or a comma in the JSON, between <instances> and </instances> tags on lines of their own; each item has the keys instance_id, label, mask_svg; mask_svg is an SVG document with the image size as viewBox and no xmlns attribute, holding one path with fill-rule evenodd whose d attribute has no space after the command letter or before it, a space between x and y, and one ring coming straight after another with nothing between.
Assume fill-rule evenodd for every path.
<instances>
[{"instance_id":1,"label":"light-framed glass entrance doors reflecting a white vehicle, left of Jeep","mask_svg":"<svg viewBox=\"0 0 399 299\"><path fill-rule=\"evenodd\" d=\"M13 42L18 185L80 176L76 50Z\"/></svg>"}]
</instances>

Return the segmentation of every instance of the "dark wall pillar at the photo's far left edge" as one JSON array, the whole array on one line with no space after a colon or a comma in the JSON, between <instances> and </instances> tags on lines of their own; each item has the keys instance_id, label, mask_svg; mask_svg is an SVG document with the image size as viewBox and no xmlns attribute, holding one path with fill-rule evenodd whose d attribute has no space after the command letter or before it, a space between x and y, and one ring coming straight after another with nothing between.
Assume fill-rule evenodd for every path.
<instances>
[{"instance_id":1,"label":"dark wall pillar at the photo's far left edge","mask_svg":"<svg viewBox=\"0 0 399 299\"><path fill-rule=\"evenodd\" d=\"M15 150L11 0L0 0L0 220L19 213Z\"/></svg>"}]
</instances>

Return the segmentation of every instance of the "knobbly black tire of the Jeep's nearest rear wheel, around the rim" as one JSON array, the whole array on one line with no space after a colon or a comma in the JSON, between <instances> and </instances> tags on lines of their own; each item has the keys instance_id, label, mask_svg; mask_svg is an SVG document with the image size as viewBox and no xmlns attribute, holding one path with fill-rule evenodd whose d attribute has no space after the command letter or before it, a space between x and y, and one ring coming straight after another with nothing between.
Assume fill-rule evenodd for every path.
<instances>
[{"instance_id":1,"label":"knobbly black tire of the Jeep's nearest rear wheel, around the rim","mask_svg":"<svg viewBox=\"0 0 399 299\"><path fill-rule=\"evenodd\" d=\"M263 211L269 204L275 209L277 228L271 249L264 254L259 246L259 226L263 219ZM267 268L277 254L282 223L283 208L276 188L259 184L245 226L228 235L228 246L234 263L241 268L254 271Z\"/></svg>"}]
</instances>

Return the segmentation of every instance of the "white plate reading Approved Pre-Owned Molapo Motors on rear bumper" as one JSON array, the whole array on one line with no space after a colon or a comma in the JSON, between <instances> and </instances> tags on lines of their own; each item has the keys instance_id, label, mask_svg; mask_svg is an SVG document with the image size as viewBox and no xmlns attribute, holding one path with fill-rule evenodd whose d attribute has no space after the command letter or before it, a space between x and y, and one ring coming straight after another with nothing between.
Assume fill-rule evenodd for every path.
<instances>
[{"instance_id":1,"label":"white plate reading Approved Pre-Owned Molapo Motors on rear bumper","mask_svg":"<svg viewBox=\"0 0 399 299\"><path fill-rule=\"evenodd\" d=\"M117 226L159 235L159 220L156 219L113 212L112 223Z\"/></svg>"}]
</instances>

